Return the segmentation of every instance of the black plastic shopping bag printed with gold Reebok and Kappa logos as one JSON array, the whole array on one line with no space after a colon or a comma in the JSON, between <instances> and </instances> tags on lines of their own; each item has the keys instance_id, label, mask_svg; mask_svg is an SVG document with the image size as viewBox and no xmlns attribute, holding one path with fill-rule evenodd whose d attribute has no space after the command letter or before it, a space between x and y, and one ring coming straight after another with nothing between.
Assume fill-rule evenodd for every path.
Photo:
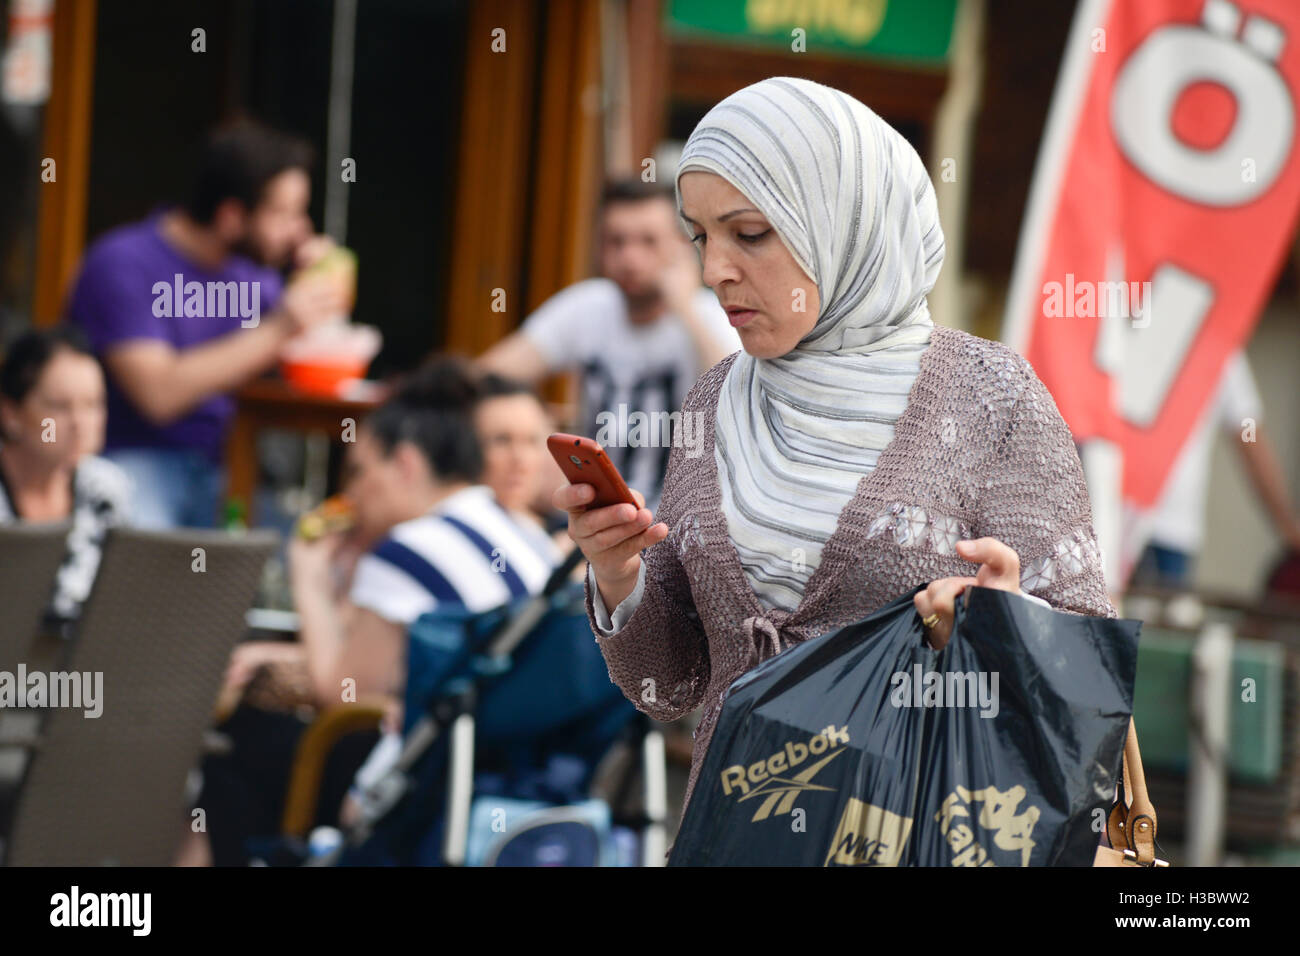
<instances>
[{"instance_id":1,"label":"black plastic shopping bag printed with gold Reebok and Kappa logos","mask_svg":"<svg viewBox=\"0 0 1300 956\"><path fill-rule=\"evenodd\" d=\"M919 589L731 685L670 865L1092 865L1141 622Z\"/></svg>"}]
</instances>

